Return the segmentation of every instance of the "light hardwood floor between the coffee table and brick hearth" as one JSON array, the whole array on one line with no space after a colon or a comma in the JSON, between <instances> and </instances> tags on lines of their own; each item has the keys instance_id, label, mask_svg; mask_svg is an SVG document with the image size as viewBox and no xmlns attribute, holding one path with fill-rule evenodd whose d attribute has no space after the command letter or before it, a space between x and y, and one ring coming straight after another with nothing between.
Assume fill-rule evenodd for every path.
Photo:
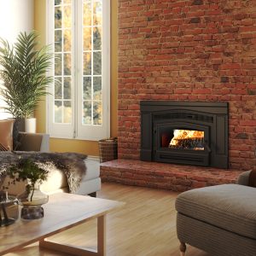
<instances>
[{"instance_id":1,"label":"light hardwood floor between the coffee table and brick hearth","mask_svg":"<svg viewBox=\"0 0 256 256\"><path fill-rule=\"evenodd\" d=\"M98 192L97 197L126 203L125 207L107 215L107 255L179 255L174 207L176 196L176 192L167 190L102 183L102 190ZM95 248L96 222L90 221L61 232L55 236L55 240ZM39 249L38 243L35 243L7 255L67 256L68 254ZM194 247L188 247L186 255L209 256Z\"/></svg>"}]
</instances>

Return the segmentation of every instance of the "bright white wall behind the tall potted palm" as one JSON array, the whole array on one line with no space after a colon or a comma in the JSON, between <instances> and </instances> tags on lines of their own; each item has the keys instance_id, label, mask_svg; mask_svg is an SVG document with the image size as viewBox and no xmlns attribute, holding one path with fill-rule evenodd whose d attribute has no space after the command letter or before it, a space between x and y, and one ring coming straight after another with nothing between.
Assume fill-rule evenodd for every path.
<instances>
[{"instance_id":1,"label":"bright white wall behind the tall potted palm","mask_svg":"<svg viewBox=\"0 0 256 256\"><path fill-rule=\"evenodd\" d=\"M20 32L30 32L33 26L34 0L0 0L0 38L14 43ZM0 119L7 117L0 95Z\"/></svg>"}]
</instances>

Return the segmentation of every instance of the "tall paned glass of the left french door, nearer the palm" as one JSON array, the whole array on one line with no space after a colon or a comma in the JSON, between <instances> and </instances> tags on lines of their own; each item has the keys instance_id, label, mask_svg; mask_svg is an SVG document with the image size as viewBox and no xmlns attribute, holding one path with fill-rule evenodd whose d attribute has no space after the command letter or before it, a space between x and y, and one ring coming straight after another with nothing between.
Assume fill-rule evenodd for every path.
<instances>
[{"instance_id":1,"label":"tall paned glass of the left french door, nearer the palm","mask_svg":"<svg viewBox=\"0 0 256 256\"><path fill-rule=\"evenodd\" d=\"M72 3L55 0L55 90L54 122L72 122Z\"/></svg>"}]
</instances>

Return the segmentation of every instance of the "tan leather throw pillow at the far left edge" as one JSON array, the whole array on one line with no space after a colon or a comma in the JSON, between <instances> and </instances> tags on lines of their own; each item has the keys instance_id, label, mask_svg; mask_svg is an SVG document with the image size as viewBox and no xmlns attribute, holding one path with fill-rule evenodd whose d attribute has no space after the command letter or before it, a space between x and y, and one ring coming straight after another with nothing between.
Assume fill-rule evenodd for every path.
<instances>
[{"instance_id":1,"label":"tan leather throw pillow at the far left edge","mask_svg":"<svg viewBox=\"0 0 256 256\"><path fill-rule=\"evenodd\" d=\"M13 150L13 127L15 119L0 120L0 151Z\"/></svg>"}]
</instances>

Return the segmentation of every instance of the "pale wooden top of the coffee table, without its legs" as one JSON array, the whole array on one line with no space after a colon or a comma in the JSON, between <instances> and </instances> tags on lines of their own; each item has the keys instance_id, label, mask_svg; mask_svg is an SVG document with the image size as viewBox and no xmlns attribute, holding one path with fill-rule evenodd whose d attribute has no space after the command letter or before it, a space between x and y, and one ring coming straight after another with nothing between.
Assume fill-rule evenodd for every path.
<instances>
[{"instance_id":1,"label":"pale wooden top of the coffee table, without its legs","mask_svg":"<svg viewBox=\"0 0 256 256\"><path fill-rule=\"evenodd\" d=\"M0 255L105 215L123 205L123 202L84 195L67 193L49 195L49 202L43 206L44 218L35 220L19 218L15 224L0 227Z\"/></svg>"}]
</instances>

